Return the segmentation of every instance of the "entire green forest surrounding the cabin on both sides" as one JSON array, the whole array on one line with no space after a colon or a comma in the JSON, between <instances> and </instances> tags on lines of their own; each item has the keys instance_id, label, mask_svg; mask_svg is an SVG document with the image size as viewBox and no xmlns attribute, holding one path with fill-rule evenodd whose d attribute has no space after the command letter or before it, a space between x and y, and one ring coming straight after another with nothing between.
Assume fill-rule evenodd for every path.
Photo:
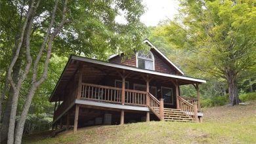
<instances>
[{"instance_id":1,"label":"entire green forest surrounding the cabin on both sides","mask_svg":"<svg viewBox=\"0 0 256 144\"><path fill-rule=\"evenodd\" d=\"M141 0L0 1L1 141L51 129L54 86L71 54L108 60L148 50L149 39L200 86L202 107L256 100L254 0L179 0L179 14L154 27L140 22ZM124 14L126 23L116 22ZM192 85L191 85L192 87ZM196 97L190 86L182 96Z\"/></svg>"}]
</instances>

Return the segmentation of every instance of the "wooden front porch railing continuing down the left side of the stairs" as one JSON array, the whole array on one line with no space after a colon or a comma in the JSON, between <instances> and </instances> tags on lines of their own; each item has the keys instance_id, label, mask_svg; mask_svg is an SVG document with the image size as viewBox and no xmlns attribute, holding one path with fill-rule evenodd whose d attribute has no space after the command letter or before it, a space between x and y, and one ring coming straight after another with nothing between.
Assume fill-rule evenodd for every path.
<instances>
[{"instance_id":1,"label":"wooden front porch railing continuing down the left side of the stairs","mask_svg":"<svg viewBox=\"0 0 256 144\"><path fill-rule=\"evenodd\" d=\"M121 104L122 89L97 84L81 84L81 99ZM127 105L148 106L160 120L163 120L163 99L156 99L149 92L125 89L124 103Z\"/></svg>"}]
</instances>

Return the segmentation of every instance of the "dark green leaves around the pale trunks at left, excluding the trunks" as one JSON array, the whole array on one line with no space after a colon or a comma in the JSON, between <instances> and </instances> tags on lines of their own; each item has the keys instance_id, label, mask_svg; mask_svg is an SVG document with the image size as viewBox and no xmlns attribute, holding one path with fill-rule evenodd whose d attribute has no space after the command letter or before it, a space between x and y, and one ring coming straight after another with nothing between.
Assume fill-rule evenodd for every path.
<instances>
[{"instance_id":1,"label":"dark green leaves around the pale trunks at left, excluding the trunks","mask_svg":"<svg viewBox=\"0 0 256 144\"><path fill-rule=\"evenodd\" d=\"M18 43L20 27L24 22L26 10L23 10L28 9L31 2L19 0L3 0L0 2L1 92L5 87L5 83L7 83L7 91L9 90L9 84L5 82L6 71L14 55L12 48L14 48L14 43ZM35 22L33 22L30 37L30 51L33 62L41 46L42 39L47 32L53 6L54 1L45 0L40 3L35 11ZM56 26L58 26L62 19L62 7L63 3L59 1L53 29L56 29ZM68 1L66 19L69 22L64 25L59 35L54 39L49 73L46 81L35 92L24 130L28 133L34 130L43 130L40 128L41 126L50 124L49 122L51 122L53 117L53 104L49 102L49 97L70 54L106 60L108 56L114 53L125 52L125 56L128 57L133 54L134 50L145 49L146 46L142 44L142 39L144 39L144 34L146 34L146 27L140 22L140 16L143 13L144 6L141 0ZM125 24L116 22L116 16L121 14L123 14L127 21ZM20 67L13 70L17 71L17 73L24 71L27 63L25 50L26 45L22 45L17 60L17 63L20 63ZM43 62L46 52L46 50L43 51L43 58L39 62L38 77L43 73ZM18 99L18 114L22 111L26 101L26 95L31 87L31 80L32 69L30 69L26 81L22 84L22 90ZM7 92L5 99L3 99L4 106L7 103L6 99L8 96L9 92Z\"/></svg>"}]
</instances>

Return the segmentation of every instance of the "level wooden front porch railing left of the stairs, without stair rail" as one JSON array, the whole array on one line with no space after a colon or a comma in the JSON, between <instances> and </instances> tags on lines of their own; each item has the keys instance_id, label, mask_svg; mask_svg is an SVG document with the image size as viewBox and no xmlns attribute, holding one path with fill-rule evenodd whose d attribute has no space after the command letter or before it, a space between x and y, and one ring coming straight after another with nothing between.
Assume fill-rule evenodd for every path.
<instances>
[{"instance_id":1,"label":"level wooden front porch railing left of the stairs, without stair rail","mask_svg":"<svg viewBox=\"0 0 256 144\"><path fill-rule=\"evenodd\" d=\"M121 103L121 88L83 83L81 99ZM125 104L146 106L146 92L125 89Z\"/></svg>"}]
</instances>

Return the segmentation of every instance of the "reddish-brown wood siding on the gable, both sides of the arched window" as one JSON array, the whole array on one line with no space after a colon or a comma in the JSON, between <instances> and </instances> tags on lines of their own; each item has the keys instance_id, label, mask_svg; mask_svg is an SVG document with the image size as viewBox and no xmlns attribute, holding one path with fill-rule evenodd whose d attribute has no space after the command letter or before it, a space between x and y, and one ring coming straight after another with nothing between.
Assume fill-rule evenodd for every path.
<instances>
[{"instance_id":1,"label":"reddish-brown wood siding on the gable, both sides of the arched window","mask_svg":"<svg viewBox=\"0 0 256 144\"><path fill-rule=\"evenodd\" d=\"M173 67L171 63L167 62L160 54L158 54L156 50L151 49L150 51L154 55L155 71L158 71L160 73L169 73L169 74L177 74L177 75L179 74L177 69L175 69L175 67ZM131 58L127 58L126 60L123 60L123 62L121 62L122 57L123 57L123 54L121 54L121 56L115 56L114 58L111 58L109 62L119 64L119 65L136 67L136 53Z\"/></svg>"}]
</instances>

